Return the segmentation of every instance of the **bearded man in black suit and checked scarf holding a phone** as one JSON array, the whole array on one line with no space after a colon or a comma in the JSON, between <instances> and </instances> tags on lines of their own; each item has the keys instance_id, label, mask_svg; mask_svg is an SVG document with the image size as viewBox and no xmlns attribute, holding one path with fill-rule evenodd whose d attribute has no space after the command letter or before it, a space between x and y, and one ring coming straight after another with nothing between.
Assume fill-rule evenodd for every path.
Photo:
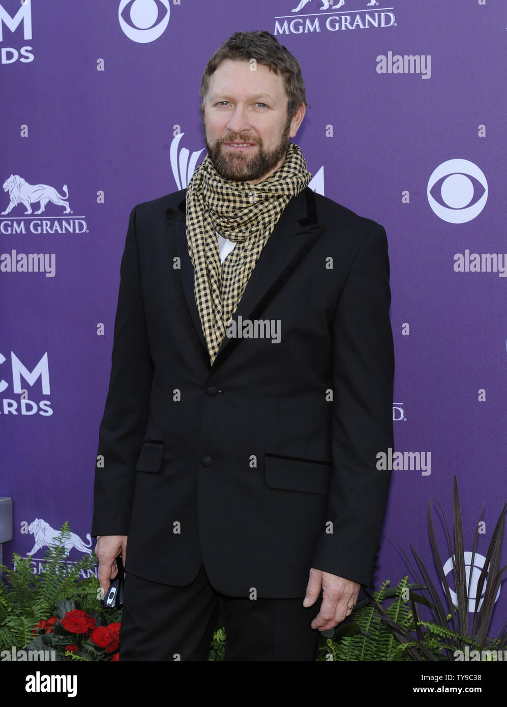
<instances>
[{"instance_id":1,"label":"bearded man in black suit and checked scarf holding a phone","mask_svg":"<svg viewBox=\"0 0 507 707\"><path fill-rule=\"evenodd\" d=\"M315 660L372 584L387 502L387 240L308 189L303 77L274 36L224 42L201 96L208 156L129 221L100 583L121 553L120 660L206 660L219 613L226 660Z\"/></svg>"}]
</instances>

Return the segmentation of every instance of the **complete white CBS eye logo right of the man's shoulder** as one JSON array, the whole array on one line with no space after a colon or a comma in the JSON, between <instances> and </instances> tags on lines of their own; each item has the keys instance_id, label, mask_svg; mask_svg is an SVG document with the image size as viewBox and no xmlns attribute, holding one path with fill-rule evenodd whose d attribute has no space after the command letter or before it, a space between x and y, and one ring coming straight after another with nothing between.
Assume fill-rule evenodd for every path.
<instances>
[{"instance_id":1,"label":"complete white CBS eye logo right of the man's shoulder","mask_svg":"<svg viewBox=\"0 0 507 707\"><path fill-rule=\"evenodd\" d=\"M482 170L473 162L448 160L433 171L427 193L429 205L438 218L448 223L466 223L479 216L484 209L488 198L488 182ZM438 195L440 201L435 198ZM477 201L472 204L474 199Z\"/></svg>"}]
</instances>

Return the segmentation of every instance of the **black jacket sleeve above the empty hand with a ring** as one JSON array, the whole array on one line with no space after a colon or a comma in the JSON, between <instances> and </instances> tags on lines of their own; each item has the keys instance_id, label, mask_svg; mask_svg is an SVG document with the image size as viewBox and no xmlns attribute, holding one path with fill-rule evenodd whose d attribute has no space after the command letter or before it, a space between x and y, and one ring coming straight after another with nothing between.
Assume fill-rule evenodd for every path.
<instances>
[{"instance_id":1,"label":"black jacket sleeve above the empty hand with a ring","mask_svg":"<svg viewBox=\"0 0 507 707\"><path fill-rule=\"evenodd\" d=\"M390 484L390 471L377 469L377 455L394 444L390 300L387 238L375 224L349 270L332 322L332 525L313 558L314 568L371 586Z\"/></svg>"}]
</instances>

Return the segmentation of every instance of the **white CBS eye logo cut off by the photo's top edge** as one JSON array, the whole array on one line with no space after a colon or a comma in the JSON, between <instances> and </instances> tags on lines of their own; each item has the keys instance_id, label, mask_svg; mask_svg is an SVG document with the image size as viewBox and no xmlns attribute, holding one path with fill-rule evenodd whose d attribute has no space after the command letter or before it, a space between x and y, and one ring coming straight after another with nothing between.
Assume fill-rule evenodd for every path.
<instances>
[{"instance_id":1,"label":"white CBS eye logo cut off by the photo's top edge","mask_svg":"<svg viewBox=\"0 0 507 707\"><path fill-rule=\"evenodd\" d=\"M169 0L121 0L118 20L129 40L146 44L161 36L169 13Z\"/></svg>"}]
</instances>

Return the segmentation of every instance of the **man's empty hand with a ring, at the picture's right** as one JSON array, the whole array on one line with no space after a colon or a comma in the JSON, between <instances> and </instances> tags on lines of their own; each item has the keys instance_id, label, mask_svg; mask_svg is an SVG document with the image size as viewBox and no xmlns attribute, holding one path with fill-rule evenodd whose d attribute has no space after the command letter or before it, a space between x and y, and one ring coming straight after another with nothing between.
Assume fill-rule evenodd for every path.
<instances>
[{"instance_id":1,"label":"man's empty hand with a ring, at the picture's right","mask_svg":"<svg viewBox=\"0 0 507 707\"><path fill-rule=\"evenodd\" d=\"M312 629L327 631L334 629L340 621L348 617L354 608L360 585L349 579L321 572L313 567L306 588L303 607L311 607L320 596L322 588L322 604L320 612L312 621Z\"/></svg>"}]
</instances>

